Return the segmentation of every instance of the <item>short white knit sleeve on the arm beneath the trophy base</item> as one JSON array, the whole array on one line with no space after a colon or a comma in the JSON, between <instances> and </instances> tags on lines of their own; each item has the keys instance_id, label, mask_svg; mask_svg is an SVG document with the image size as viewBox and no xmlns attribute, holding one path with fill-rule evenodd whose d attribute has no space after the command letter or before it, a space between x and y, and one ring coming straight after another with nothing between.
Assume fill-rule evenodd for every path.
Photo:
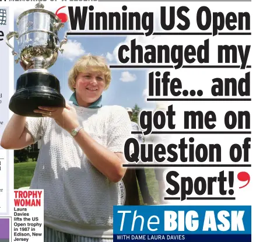
<instances>
[{"instance_id":1,"label":"short white knit sleeve on the arm beneath the trophy base","mask_svg":"<svg viewBox=\"0 0 256 242\"><path fill-rule=\"evenodd\" d=\"M43 135L43 118L27 117L25 127L34 138L34 143Z\"/></svg>"}]
</instances>

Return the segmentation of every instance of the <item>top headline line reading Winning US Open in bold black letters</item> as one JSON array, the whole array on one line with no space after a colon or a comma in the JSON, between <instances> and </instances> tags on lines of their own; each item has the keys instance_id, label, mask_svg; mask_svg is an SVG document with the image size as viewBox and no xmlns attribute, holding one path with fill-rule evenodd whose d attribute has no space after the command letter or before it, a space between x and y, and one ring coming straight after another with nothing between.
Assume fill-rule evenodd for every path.
<instances>
[{"instance_id":1,"label":"top headline line reading Winning US Open in bold black letters","mask_svg":"<svg viewBox=\"0 0 256 242\"><path fill-rule=\"evenodd\" d=\"M68 7L69 19L72 30L85 30L86 22L89 30L145 30L146 36L154 32L153 12L129 12L127 6L122 6L118 12L96 12L94 6L73 6ZM188 30L190 21L197 21L200 30L212 28L213 36L218 34L224 27L228 30L250 30L250 14L248 12L229 12L224 15L222 12L211 12L206 6L198 9L197 14L188 18L190 11L187 6L177 8L160 6L160 26L163 30ZM176 20L176 17L179 21ZM178 22L178 23L176 23ZM77 29L78 27L78 29Z\"/></svg>"}]
</instances>

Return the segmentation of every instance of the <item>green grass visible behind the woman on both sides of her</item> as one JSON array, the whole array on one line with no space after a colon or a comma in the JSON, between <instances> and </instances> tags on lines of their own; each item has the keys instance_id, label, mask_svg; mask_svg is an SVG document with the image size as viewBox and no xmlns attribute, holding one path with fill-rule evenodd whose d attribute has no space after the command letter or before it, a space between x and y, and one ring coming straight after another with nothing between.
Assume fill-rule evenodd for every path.
<instances>
[{"instance_id":1,"label":"green grass visible behind the woman on both sides of her","mask_svg":"<svg viewBox=\"0 0 256 242\"><path fill-rule=\"evenodd\" d=\"M36 167L36 162L31 162L31 159L29 159L29 162L14 164L14 188L15 189L20 187L30 186L30 182L34 174L35 167ZM155 172L153 169L145 169L145 171L146 171L146 178L147 178L147 183L149 187L149 192L156 201L159 201L158 184L155 178ZM143 205L143 200L142 200L140 190L139 190L139 199L141 201L141 204Z\"/></svg>"}]
</instances>

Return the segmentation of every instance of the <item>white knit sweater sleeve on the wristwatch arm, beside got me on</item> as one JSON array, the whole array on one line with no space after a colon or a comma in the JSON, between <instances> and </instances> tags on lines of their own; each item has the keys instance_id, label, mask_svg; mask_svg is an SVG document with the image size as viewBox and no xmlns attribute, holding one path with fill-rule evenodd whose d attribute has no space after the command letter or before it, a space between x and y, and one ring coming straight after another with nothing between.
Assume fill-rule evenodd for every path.
<instances>
[{"instance_id":1,"label":"white knit sweater sleeve on the wristwatch arm, beside got me on","mask_svg":"<svg viewBox=\"0 0 256 242\"><path fill-rule=\"evenodd\" d=\"M108 130L107 148L124 153L125 141L131 138L131 121L125 108L113 106Z\"/></svg>"}]
</instances>

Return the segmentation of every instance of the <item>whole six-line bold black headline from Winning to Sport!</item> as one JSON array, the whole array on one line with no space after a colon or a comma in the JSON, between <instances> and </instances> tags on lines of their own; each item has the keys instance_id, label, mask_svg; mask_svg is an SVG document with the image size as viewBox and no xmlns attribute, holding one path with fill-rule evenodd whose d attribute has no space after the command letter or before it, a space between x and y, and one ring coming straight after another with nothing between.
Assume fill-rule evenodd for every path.
<instances>
[{"instance_id":1,"label":"whole six-line bold black headline from Winning to Sport!","mask_svg":"<svg viewBox=\"0 0 256 242\"><path fill-rule=\"evenodd\" d=\"M45 0L44 0L45 1ZM145 6L146 9L146 6ZM114 31L140 31L145 36L157 34L154 31L153 12L129 12L127 6L122 6L118 12L97 12L96 6L68 7L71 30L114 30ZM212 12L206 6L201 6L197 12L190 12L187 6L160 6L159 26L167 31L179 30L184 33L190 29L191 23L197 23L198 30L211 31L216 36L220 31L250 30L250 14L248 12ZM93 31L92 31L93 32ZM176 33L174 33L176 34ZM191 33L189 33L191 34ZM198 34L198 33L197 33ZM206 33L208 34L208 33ZM223 33L226 34L226 33ZM251 34L251 33L249 33ZM0 31L2 41L3 32ZM204 41L204 43L202 42ZM209 39L201 40L201 45L177 45L173 42L163 45L148 44L142 46L136 43L136 39L128 44L118 47L118 59L122 64L171 64L175 69L182 68L184 63L199 64L209 63ZM218 63L241 63L240 68L247 68L247 61L251 45L218 45L213 51L218 52ZM188 66L187 66L188 67ZM197 66L194 66L197 67ZM208 67L208 66L207 66ZM211 66L218 67L218 66ZM234 66L236 67L236 66ZM211 93L217 96L250 96L250 72L243 78L214 78ZM171 72L159 71L149 73L149 96L178 97L182 94L182 83L178 78L171 77ZM202 90L201 90L202 92ZM191 95L192 96L192 95ZM198 95L200 96L200 95ZM202 96L202 95L201 95ZM144 135L149 135L153 128L164 129L166 124L169 129L175 129L176 111L173 105L167 111L142 111L139 115L139 123ZM184 111L184 129L214 129L216 127L216 114L213 111ZM227 129L250 129L249 111L227 111L224 120ZM135 138L129 138L125 142L124 155L129 163L220 163L222 162L222 147L219 143L194 144L193 137L181 138L178 143L139 143ZM248 162L251 138L244 138L242 144L233 143L230 146L230 161ZM131 152L133 150L133 152ZM243 157L243 159L242 159ZM213 177L183 177L177 171L169 171L166 174L167 184L170 186L166 192L169 195L180 194L181 201L192 194L213 195L213 188L218 186L222 196L233 195L234 172L220 171ZM219 183L219 184L218 184ZM229 185L229 188L227 188ZM215 189L214 189L215 190Z\"/></svg>"}]
</instances>

